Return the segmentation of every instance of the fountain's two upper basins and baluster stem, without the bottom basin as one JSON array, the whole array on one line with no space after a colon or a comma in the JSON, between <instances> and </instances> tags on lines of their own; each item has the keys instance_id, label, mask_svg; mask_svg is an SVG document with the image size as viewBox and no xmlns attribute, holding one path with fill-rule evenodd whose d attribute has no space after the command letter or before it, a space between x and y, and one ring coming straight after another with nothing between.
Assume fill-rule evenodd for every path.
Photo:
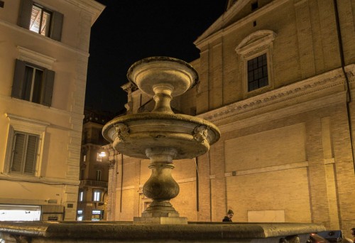
<instances>
[{"instance_id":1,"label":"fountain's two upper basins and baluster stem, without the bottom basin","mask_svg":"<svg viewBox=\"0 0 355 243\"><path fill-rule=\"evenodd\" d=\"M143 194L153 202L133 222L187 224L187 218L179 217L170 204L179 193L179 185L171 176L173 160L201 156L220 135L211 122L174 114L170 107L173 97L196 85L197 72L182 60L153 57L134 63L127 76L153 97L155 108L149 113L117 117L104 126L102 134L120 153L151 159L151 178L144 184Z\"/></svg>"}]
</instances>

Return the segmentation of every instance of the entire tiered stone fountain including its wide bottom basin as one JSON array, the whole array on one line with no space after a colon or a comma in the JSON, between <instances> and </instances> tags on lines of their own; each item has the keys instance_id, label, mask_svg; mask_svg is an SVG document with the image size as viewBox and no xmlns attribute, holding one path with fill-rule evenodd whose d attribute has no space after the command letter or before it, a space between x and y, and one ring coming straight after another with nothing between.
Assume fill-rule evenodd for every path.
<instances>
[{"instance_id":1,"label":"entire tiered stone fountain including its wide bottom basin","mask_svg":"<svg viewBox=\"0 0 355 243\"><path fill-rule=\"evenodd\" d=\"M195 158L218 141L214 124L184 114L174 114L170 101L198 82L197 72L175 58L146 58L128 72L142 92L153 96L150 113L116 117L103 135L127 156L150 158L151 178L143 193L151 205L133 222L0 222L4 242L244 242L300 243L310 233L324 231L311 223L187 222L170 203L179 193L171 176L173 160Z\"/></svg>"}]
</instances>

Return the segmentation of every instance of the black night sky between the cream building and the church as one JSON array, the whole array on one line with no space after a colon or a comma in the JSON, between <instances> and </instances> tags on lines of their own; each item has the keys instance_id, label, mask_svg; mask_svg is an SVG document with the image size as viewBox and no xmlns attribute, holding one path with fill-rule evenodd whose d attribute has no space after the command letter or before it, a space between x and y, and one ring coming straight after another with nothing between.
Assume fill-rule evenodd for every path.
<instances>
[{"instance_id":1,"label":"black night sky between the cream building and the church","mask_svg":"<svg viewBox=\"0 0 355 243\"><path fill-rule=\"evenodd\" d=\"M97 0L106 6L92 26L85 106L120 112L129 67L142 58L191 62L193 44L224 13L227 0Z\"/></svg>"}]
</instances>

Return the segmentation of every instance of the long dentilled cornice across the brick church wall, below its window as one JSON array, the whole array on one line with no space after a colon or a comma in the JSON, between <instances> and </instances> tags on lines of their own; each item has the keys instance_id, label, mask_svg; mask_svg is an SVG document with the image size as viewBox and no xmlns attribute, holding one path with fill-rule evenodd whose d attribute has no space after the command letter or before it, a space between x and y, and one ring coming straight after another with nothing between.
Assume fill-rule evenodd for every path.
<instances>
[{"instance_id":1,"label":"long dentilled cornice across the brick church wall, below its window","mask_svg":"<svg viewBox=\"0 0 355 243\"><path fill-rule=\"evenodd\" d=\"M322 75L311 77L307 80L302 80L285 87L280 87L276 90L268 91L261 95L256 95L254 97L250 97L233 104L228 104L224 107L214 109L204 114L199 114L197 117L207 119L208 121L217 122L218 124L223 124L223 120L240 116L241 114L244 114L244 117L248 117L248 113L250 113L249 117L251 117L253 115L251 112L258 111L258 114L261 114L262 110L266 107L274 110L289 107L290 105L294 105L297 101L300 101L300 97L304 98L300 102L303 107L301 108L312 109L312 104L309 104L310 106L306 108L302 103L307 101L312 102L312 100L317 98L319 99L319 96L312 96L316 93L323 95L322 97L329 97L329 95L334 96L334 94L338 95L338 102L342 102L342 97L344 96L345 92L344 80L345 79L342 73L342 69L339 68L337 70L332 70L331 72L326 72ZM342 92L335 90L334 88L336 87L342 88ZM329 105L329 102L323 101L323 103L324 104L317 103L317 107L319 108L320 106L324 107ZM282 107L280 107L280 104L282 104Z\"/></svg>"}]
</instances>

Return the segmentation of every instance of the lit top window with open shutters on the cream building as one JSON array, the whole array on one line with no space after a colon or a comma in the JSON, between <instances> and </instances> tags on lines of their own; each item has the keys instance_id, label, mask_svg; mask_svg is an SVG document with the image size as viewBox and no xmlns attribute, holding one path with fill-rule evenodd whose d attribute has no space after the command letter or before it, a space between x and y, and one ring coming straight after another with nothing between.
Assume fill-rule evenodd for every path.
<instances>
[{"instance_id":1,"label":"lit top window with open shutters on the cream building","mask_svg":"<svg viewBox=\"0 0 355 243\"><path fill-rule=\"evenodd\" d=\"M62 38L63 15L32 0L21 0L18 25L55 41Z\"/></svg>"}]
</instances>

